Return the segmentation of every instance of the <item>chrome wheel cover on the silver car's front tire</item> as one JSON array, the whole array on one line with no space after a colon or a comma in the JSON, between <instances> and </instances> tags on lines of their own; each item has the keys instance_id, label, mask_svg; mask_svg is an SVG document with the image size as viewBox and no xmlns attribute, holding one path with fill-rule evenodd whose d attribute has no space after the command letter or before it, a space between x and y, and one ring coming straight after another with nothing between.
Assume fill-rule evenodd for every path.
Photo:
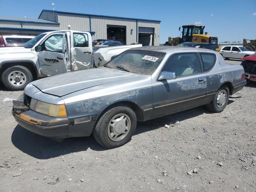
<instances>
[{"instance_id":1,"label":"chrome wheel cover on the silver car's front tire","mask_svg":"<svg viewBox=\"0 0 256 192\"><path fill-rule=\"evenodd\" d=\"M112 141L120 141L124 139L131 128L131 120L126 114L115 115L108 124L108 137Z\"/></svg>"}]
</instances>

